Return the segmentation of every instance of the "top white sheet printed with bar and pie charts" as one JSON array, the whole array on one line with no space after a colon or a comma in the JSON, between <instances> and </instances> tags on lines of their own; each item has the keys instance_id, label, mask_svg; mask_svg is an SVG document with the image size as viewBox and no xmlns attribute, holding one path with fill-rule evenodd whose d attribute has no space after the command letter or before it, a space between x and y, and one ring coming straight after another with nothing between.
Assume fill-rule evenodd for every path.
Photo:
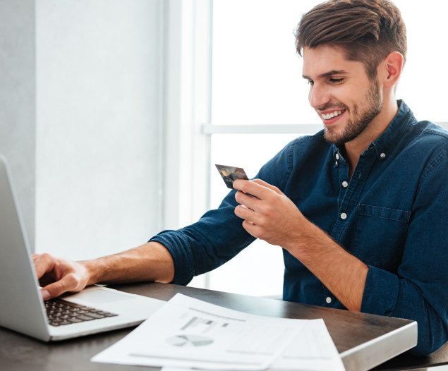
<instances>
[{"instance_id":1,"label":"top white sheet printed with bar and pie charts","mask_svg":"<svg viewBox=\"0 0 448 371\"><path fill-rule=\"evenodd\" d=\"M250 315L176 294L131 334L92 361L265 370L307 322Z\"/></svg>"}]
</instances>

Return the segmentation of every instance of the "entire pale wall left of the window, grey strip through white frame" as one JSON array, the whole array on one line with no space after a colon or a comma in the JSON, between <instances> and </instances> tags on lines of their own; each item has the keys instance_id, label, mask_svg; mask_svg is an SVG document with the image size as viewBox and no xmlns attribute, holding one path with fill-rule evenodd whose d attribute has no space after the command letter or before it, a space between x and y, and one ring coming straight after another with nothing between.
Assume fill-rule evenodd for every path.
<instances>
[{"instance_id":1,"label":"entire pale wall left of the window, grey strip through white frame","mask_svg":"<svg viewBox=\"0 0 448 371\"><path fill-rule=\"evenodd\" d=\"M32 250L106 255L205 211L210 6L0 0L0 152Z\"/></svg>"}]
</instances>

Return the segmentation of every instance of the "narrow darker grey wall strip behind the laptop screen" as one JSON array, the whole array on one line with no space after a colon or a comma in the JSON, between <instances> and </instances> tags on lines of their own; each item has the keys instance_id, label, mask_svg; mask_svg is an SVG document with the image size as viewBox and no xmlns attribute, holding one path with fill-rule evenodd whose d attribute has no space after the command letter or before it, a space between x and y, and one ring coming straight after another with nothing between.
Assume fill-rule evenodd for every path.
<instances>
[{"instance_id":1,"label":"narrow darker grey wall strip behind the laptop screen","mask_svg":"<svg viewBox=\"0 0 448 371\"><path fill-rule=\"evenodd\" d=\"M35 1L0 1L0 153L35 241Z\"/></svg>"}]
</instances>

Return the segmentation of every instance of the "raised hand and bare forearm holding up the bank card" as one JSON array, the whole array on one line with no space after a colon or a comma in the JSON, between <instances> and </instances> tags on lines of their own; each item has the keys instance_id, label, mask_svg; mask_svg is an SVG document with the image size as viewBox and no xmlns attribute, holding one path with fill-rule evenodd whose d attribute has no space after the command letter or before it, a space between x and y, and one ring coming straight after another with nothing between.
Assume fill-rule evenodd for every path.
<instances>
[{"instance_id":1,"label":"raised hand and bare forearm holding up the bank card","mask_svg":"<svg viewBox=\"0 0 448 371\"><path fill-rule=\"evenodd\" d=\"M235 214L252 236L281 246L305 264L349 310L361 310L368 267L306 219L277 187L256 179L234 182ZM252 197L250 195L254 195Z\"/></svg>"}]
</instances>

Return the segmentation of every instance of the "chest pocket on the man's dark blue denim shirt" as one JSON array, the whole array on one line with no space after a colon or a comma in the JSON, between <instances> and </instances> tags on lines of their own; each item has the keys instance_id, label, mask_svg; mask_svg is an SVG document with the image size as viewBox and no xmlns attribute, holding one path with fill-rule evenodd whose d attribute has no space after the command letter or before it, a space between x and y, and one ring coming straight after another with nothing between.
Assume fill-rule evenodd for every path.
<instances>
[{"instance_id":1,"label":"chest pocket on the man's dark blue denim shirt","mask_svg":"<svg viewBox=\"0 0 448 371\"><path fill-rule=\"evenodd\" d=\"M396 271L411 212L361 204L353 254L366 264Z\"/></svg>"}]
</instances>

